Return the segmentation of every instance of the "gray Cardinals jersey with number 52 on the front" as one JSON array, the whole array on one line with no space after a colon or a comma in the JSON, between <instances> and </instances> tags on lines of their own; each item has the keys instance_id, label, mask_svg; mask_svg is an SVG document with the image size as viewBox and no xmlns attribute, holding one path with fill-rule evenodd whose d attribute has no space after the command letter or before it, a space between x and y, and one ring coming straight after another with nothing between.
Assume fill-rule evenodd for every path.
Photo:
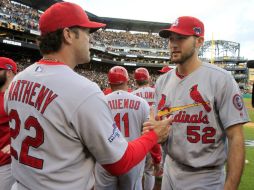
<instances>
[{"instance_id":1,"label":"gray Cardinals jersey with number 52 on the front","mask_svg":"<svg viewBox=\"0 0 254 190\"><path fill-rule=\"evenodd\" d=\"M175 69L162 75L155 102L160 117L174 118L164 146L167 154L191 168L222 166L227 158L225 130L249 120L232 75L207 63L183 79Z\"/></svg>"}]
</instances>

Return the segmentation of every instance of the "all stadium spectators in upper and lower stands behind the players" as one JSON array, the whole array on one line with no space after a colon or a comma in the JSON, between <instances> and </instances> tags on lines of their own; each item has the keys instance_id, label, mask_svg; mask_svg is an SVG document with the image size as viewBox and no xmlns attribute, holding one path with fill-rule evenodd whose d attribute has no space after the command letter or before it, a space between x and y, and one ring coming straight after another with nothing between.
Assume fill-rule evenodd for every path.
<instances>
[{"instance_id":1,"label":"all stadium spectators in upper and lower stands behind the players","mask_svg":"<svg viewBox=\"0 0 254 190\"><path fill-rule=\"evenodd\" d=\"M0 22L17 24L28 29L38 30L38 20L40 11L31 7L22 5L15 1L0 0ZM92 34L91 43L93 46L104 47L105 52L92 53L93 57L102 58L109 61L121 63L145 63L145 64L167 64L168 60L159 57L169 57L167 49L167 40L160 38L157 34L151 33L132 33L126 31L107 31L99 30ZM115 56L117 53L119 56ZM1 53L2 55L5 53ZM129 55L137 55L129 56ZM139 56L151 56L149 58L140 58ZM153 58L155 56L156 58ZM23 70L27 65L35 60L26 57L19 57L19 70ZM107 87L107 71L104 66L92 69L78 69L78 72L85 75L92 81L98 83L103 89ZM96 72L96 74L95 74ZM152 80L155 81L158 73L152 74ZM130 75L132 77L132 75ZM244 79L239 77L238 82L244 85ZM240 80L240 81L239 81ZM242 80L242 81L241 81ZM131 78L131 84L134 84Z\"/></svg>"}]
</instances>

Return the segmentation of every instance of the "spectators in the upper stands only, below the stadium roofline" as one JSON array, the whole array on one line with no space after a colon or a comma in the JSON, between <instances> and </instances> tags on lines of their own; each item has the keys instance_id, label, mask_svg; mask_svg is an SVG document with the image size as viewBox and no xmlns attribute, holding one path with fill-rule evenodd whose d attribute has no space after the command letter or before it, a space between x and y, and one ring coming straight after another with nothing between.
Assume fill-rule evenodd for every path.
<instances>
[{"instance_id":1,"label":"spectators in the upper stands only, below the stadium roofline","mask_svg":"<svg viewBox=\"0 0 254 190\"><path fill-rule=\"evenodd\" d=\"M40 12L15 1L0 0L0 20L18 26L38 30ZM131 55L150 55L168 57L167 40L157 34L132 33L126 31L100 30L94 33L91 43L106 47L106 51ZM118 49L117 47L121 47ZM123 49L123 47L126 47ZM136 49L131 49L136 48Z\"/></svg>"}]
</instances>

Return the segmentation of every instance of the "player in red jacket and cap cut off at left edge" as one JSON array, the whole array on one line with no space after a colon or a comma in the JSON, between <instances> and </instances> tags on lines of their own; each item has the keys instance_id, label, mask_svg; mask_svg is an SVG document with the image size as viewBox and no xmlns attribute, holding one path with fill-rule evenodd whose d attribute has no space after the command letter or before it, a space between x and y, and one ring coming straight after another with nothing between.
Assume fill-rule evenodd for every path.
<instances>
[{"instance_id":1,"label":"player in red jacket and cap cut off at left edge","mask_svg":"<svg viewBox=\"0 0 254 190\"><path fill-rule=\"evenodd\" d=\"M4 111L4 92L17 73L16 63L7 57L0 57L0 189L10 190L14 178L11 175L9 117Z\"/></svg>"}]
</instances>

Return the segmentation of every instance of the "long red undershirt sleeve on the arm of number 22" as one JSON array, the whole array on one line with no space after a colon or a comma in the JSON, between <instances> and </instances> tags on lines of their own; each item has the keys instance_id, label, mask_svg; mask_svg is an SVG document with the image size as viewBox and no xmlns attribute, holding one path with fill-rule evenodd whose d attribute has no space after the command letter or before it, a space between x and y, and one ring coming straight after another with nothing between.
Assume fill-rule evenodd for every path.
<instances>
[{"instance_id":1,"label":"long red undershirt sleeve on the arm of number 22","mask_svg":"<svg viewBox=\"0 0 254 190\"><path fill-rule=\"evenodd\" d=\"M102 166L114 176L125 174L144 159L151 148L157 144L157 140L156 133L150 131L138 139L128 142L128 147L120 160Z\"/></svg>"}]
</instances>

